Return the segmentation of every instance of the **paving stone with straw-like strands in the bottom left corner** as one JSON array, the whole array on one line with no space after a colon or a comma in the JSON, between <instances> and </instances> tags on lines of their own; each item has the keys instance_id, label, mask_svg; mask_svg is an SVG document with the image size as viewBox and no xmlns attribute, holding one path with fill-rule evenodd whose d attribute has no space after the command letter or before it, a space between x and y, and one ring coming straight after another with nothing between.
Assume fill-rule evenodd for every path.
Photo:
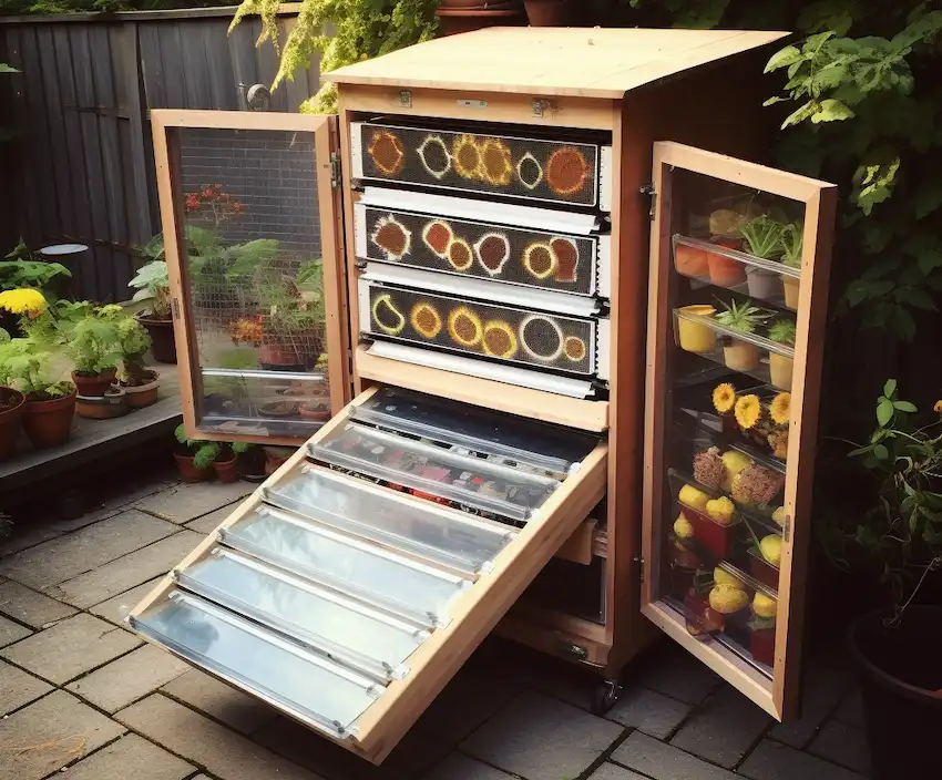
<instances>
[{"instance_id":1,"label":"paving stone with straw-like strands in the bottom left corner","mask_svg":"<svg viewBox=\"0 0 942 780\"><path fill-rule=\"evenodd\" d=\"M57 690L0 720L0 780L39 780L126 729Z\"/></svg>"}]
</instances>

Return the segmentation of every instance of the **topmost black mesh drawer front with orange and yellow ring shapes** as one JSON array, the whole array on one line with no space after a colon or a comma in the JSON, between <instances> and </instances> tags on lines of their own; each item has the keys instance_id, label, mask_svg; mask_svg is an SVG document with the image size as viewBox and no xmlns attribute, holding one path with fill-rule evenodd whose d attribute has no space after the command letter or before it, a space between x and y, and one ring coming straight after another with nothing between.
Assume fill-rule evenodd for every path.
<instances>
[{"instance_id":1,"label":"topmost black mesh drawer front with orange and yellow ring shapes","mask_svg":"<svg viewBox=\"0 0 942 780\"><path fill-rule=\"evenodd\" d=\"M352 129L357 132L357 127ZM597 144L364 122L364 178L595 206Z\"/></svg>"}]
</instances>

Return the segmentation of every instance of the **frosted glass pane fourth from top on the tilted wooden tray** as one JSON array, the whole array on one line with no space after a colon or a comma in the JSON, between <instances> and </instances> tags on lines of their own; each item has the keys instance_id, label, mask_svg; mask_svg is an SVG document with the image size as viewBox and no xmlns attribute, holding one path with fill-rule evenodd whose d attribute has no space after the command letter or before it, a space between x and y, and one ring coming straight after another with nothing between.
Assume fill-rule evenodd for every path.
<instances>
[{"instance_id":1,"label":"frosted glass pane fourth from top on the tilted wooden tray","mask_svg":"<svg viewBox=\"0 0 942 780\"><path fill-rule=\"evenodd\" d=\"M448 620L471 583L288 512L262 507L225 528L223 542L426 627Z\"/></svg>"}]
</instances>

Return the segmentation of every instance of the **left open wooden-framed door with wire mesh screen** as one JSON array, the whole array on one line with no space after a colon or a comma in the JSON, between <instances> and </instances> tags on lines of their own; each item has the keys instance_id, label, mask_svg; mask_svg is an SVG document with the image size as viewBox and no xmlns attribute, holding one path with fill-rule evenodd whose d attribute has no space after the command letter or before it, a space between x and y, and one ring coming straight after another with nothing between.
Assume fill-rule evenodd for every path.
<instances>
[{"instance_id":1,"label":"left open wooden-framed door with wire mesh screen","mask_svg":"<svg viewBox=\"0 0 942 780\"><path fill-rule=\"evenodd\" d=\"M187 431L304 441L349 397L336 119L152 121Z\"/></svg>"}]
</instances>

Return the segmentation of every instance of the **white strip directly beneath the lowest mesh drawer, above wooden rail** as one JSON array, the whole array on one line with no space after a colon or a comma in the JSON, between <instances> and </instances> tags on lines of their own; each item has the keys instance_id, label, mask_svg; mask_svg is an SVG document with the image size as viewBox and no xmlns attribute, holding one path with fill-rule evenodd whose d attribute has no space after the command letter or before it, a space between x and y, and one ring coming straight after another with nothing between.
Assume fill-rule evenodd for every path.
<instances>
[{"instance_id":1,"label":"white strip directly beneath the lowest mesh drawer, above wooden rail","mask_svg":"<svg viewBox=\"0 0 942 780\"><path fill-rule=\"evenodd\" d=\"M481 379L492 379L498 382L505 382L506 384L530 388L531 390L554 392L557 396L590 398L593 394L592 382L581 379L528 371L526 369L512 366L500 366L483 360L474 360L473 358L462 358L457 355L433 352L418 347L407 347L401 343L375 341L369 348L369 352L378 358L399 360L414 366L427 366L441 371L463 373L470 377L480 377Z\"/></svg>"}]
</instances>

